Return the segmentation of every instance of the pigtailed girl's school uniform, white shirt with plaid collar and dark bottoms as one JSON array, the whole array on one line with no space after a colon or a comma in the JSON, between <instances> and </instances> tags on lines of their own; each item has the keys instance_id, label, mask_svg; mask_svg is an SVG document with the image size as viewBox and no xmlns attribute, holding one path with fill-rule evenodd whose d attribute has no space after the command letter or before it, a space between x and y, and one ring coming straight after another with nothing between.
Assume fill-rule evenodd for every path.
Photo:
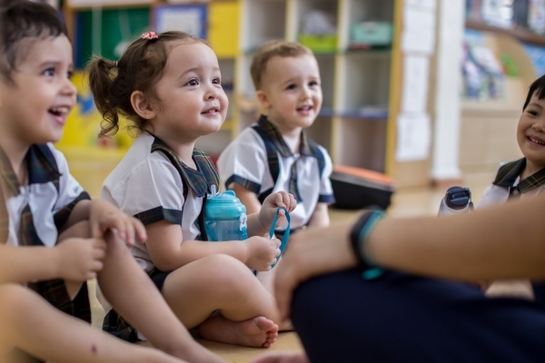
<instances>
[{"instance_id":1,"label":"pigtailed girl's school uniform, white shirt with plaid collar and dark bottoms","mask_svg":"<svg viewBox=\"0 0 545 363\"><path fill-rule=\"evenodd\" d=\"M206 240L203 207L210 185L218 186L219 178L213 163L203 152L194 150L193 161L197 170L186 166L166 143L144 132L106 178L101 198L144 225L168 221L180 225L183 240ZM155 268L143 243L136 241L130 250L157 288L162 289L170 271ZM106 311L111 309L107 301L99 300ZM136 331L114 310L104 318L103 329L125 340L138 338Z\"/></svg>"}]
</instances>

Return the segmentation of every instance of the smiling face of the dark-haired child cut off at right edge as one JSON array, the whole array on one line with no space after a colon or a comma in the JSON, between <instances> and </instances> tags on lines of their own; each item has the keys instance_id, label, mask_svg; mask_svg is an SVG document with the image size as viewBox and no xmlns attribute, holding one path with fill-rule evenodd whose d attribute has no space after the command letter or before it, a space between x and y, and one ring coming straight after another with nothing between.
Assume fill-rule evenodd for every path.
<instances>
[{"instance_id":1,"label":"smiling face of the dark-haired child cut off at right edge","mask_svg":"<svg viewBox=\"0 0 545 363\"><path fill-rule=\"evenodd\" d=\"M545 167L545 99L538 99L535 93L520 115L517 141L533 172Z\"/></svg>"}]
</instances>

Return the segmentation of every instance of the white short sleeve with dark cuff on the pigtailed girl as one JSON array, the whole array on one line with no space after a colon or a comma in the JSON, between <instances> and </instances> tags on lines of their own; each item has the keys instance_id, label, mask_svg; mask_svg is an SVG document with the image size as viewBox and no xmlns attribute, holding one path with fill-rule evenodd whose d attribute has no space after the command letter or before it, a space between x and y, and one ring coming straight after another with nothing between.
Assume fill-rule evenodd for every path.
<instances>
[{"instance_id":1,"label":"white short sleeve with dark cuff on the pigtailed girl","mask_svg":"<svg viewBox=\"0 0 545 363\"><path fill-rule=\"evenodd\" d=\"M101 198L139 219L182 224L183 182L180 173L159 153L134 166L123 179L108 178Z\"/></svg>"}]
</instances>

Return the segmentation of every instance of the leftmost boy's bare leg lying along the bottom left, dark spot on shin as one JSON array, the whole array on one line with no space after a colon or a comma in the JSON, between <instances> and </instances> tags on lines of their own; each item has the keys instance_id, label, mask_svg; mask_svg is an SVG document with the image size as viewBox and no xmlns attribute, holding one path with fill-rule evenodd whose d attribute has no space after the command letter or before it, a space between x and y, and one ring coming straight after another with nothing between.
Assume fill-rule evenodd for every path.
<instances>
[{"instance_id":1,"label":"leftmost boy's bare leg lying along the bottom left, dark spot on shin","mask_svg":"<svg viewBox=\"0 0 545 363\"><path fill-rule=\"evenodd\" d=\"M0 285L0 321L0 346L4 348L0 354L13 347L56 363L181 362L93 329L19 285Z\"/></svg>"}]
</instances>

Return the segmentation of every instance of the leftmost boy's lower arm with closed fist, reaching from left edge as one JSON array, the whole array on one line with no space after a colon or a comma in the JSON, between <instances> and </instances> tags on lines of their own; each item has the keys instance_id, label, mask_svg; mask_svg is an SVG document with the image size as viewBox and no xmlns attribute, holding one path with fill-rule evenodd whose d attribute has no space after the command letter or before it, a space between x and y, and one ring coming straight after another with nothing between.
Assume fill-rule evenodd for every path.
<instances>
[{"instance_id":1,"label":"leftmost boy's lower arm with closed fist, reaching from left edge","mask_svg":"<svg viewBox=\"0 0 545 363\"><path fill-rule=\"evenodd\" d=\"M102 270L105 250L100 239L67 239L54 248L0 244L0 283L94 279Z\"/></svg>"}]
</instances>

